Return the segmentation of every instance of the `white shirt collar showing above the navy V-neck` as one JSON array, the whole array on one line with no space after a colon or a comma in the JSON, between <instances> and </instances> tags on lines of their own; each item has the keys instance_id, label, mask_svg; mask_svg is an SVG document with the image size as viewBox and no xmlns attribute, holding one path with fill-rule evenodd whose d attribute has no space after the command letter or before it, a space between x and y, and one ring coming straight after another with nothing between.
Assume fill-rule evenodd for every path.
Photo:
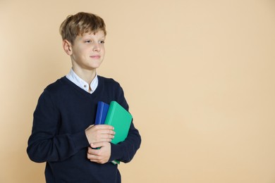
<instances>
[{"instance_id":1,"label":"white shirt collar showing above the navy V-neck","mask_svg":"<svg viewBox=\"0 0 275 183\"><path fill-rule=\"evenodd\" d=\"M66 77L68 78L68 80L76 84L81 89L84 89L86 92L89 92L89 84L84 80L82 80L78 75L76 75L75 72L73 71L73 68L71 68L70 72L68 73L68 75L66 75ZM89 93L92 94L94 90L97 89L97 86L98 86L98 77L96 73L94 80L92 80L90 84L91 91Z\"/></svg>"}]
</instances>

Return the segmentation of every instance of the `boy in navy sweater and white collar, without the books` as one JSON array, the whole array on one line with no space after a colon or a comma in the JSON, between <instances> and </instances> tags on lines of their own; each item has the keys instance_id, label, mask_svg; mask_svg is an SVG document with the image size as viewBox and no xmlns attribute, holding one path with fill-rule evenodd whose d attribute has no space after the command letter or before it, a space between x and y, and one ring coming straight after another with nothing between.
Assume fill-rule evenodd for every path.
<instances>
[{"instance_id":1,"label":"boy in navy sweater and white collar, without the books","mask_svg":"<svg viewBox=\"0 0 275 183\"><path fill-rule=\"evenodd\" d=\"M93 125L98 101L117 101L128 110L118 82L97 75L105 52L104 20L92 13L77 13L63 21L60 32L72 68L39 97L27 154L37 163L47 162L45 177L50 183L121 182L111 161L128 163L141 138L132 122L126 140L111 144L114 128Z\"/></svg>"}]
</instances>

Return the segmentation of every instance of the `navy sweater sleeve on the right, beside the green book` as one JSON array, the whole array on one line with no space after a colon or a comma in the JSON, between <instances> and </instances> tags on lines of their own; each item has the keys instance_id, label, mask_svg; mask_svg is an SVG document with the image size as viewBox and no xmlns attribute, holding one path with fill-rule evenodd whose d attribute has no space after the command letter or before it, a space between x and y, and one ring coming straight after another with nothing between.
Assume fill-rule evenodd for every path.
<instances>
[{"instance_id":1,"label":"navy sweater sleeve on the right, beside the green book","mask_svg":"<svg viewBox=\"0 0 275 183\"><path fill-rule=\"evenodd\" d=\"M129 110L123 89L120 86L118 87L118 98L116 100L121 104L121 106L123 106L123 108L126 108L127 111ZM130 162L140 148L140 144L140 133L135 128L132 120L126 140L118 144L111 144L111 157L109 158L109 162L112 160L119 160L123 163Z\"/></svg>"}]
</instances>

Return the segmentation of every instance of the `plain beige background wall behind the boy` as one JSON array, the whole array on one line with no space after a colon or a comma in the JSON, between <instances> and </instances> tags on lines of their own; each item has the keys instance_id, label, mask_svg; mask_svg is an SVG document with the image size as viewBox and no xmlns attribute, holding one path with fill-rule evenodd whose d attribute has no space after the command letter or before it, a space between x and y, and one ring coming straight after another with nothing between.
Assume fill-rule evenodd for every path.
<instances>
[{"instance_id":1,"label":"plain beige background wall behind the boy","mask_svg":"<svg viewBox=\"0 0 275 183\"><path fill-rule=\"evenodd\" d=\"M78 11L106 21L98 72L142 135L123 182L275 182L272 0L0 0L0 182L44 182L27 138L44 87L71 68L59 25Z\"/></svg>"}]
</instances>

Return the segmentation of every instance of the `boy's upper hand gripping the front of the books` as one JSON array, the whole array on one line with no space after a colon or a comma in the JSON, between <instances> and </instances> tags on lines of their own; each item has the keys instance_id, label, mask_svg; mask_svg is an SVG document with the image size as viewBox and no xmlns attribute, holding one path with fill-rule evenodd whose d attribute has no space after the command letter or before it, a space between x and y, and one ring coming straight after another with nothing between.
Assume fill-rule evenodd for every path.
<instances>
[{"instance_id":1,"label":"boy's upper hand gripping the front of the books","mask_svg":"<svg viewBox=\"0 0 275 183\"><path fill-rule=\"evenodd\" d=\"M85 134L89 144L93 144L98 141L111 141L114 139L115 132L111 125L90 125L85 130Z\"/></svg>"}]
</instances>

